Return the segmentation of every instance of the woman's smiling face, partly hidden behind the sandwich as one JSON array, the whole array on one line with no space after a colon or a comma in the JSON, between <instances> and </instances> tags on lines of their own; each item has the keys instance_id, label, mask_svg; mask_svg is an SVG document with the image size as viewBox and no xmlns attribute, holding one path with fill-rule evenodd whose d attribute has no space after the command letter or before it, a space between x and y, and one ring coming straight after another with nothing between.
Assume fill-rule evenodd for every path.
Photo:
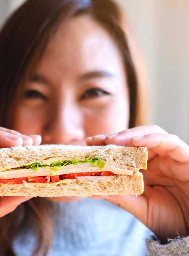
<instances>
[{"instance_id":1,"label":"woman's smiling face, partly hidden behind the sandwich","mask_svg":"<svg viewBox=\"0 0 189 256\"><path fill-rule=\"evenodd\" d=\"M88 15L62 23L17 103L12 128L42 143L85 145L125 130L128 86L113 39Z\"/></svg>"}]
</instances>

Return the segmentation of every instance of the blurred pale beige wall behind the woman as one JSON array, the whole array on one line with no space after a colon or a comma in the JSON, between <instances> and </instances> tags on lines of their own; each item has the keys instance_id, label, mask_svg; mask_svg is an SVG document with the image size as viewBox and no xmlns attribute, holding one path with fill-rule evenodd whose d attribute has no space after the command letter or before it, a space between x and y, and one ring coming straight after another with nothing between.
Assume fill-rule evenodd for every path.
<instances>
[{"instance_id":1,"label":"blurred pale beige wall behind the woman","mask_svg":"<svg viewBox=\"0 0 189 256\"><path fill-rule=\"evenodd\" d=\"M189 0L116 1L123 6L143 52L150 123L189 144ZM22 2L0 0L0 26Z\"/></svg>"}]
</instances>

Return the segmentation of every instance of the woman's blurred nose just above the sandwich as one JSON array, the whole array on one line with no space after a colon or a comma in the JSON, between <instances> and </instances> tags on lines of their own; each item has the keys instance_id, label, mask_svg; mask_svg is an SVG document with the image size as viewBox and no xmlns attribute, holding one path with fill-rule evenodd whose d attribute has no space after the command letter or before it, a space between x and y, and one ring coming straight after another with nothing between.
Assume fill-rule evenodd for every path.
<instances>
[{"instance_id":1,"label":"woman's blurred nose just above the sandwich","mask_svg":"<svg viewBox=\"0 0 189 256\"><path fill-rule=\"evenodd\" d=\"M73 104L54 105L47 114L42 143L83 145L84 140L82 115L78 107Z\"/></svg>"}]
</instances>

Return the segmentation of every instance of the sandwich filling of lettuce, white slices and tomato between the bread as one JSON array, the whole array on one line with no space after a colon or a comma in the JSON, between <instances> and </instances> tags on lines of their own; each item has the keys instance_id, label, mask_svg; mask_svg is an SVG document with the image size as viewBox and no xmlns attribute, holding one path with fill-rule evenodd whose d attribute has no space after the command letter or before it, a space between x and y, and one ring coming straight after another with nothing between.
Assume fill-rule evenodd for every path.
<instances>
[{"instance_id":1,"label":"sandwich filling of lettuce, white slices and tomato between the bread","mask_svg":"<svg viewBox=\"0 0 189 256\"><path fill-rule=\"evenodd\" d=\"M114 175L132 176L138 172L138 168L105 162L99 158L87 158L82 161L62 160L48 164L35 162L1 171L0 183L54 183L66 179L108 181L113 179Z\"/></svg>"}]
</instances>

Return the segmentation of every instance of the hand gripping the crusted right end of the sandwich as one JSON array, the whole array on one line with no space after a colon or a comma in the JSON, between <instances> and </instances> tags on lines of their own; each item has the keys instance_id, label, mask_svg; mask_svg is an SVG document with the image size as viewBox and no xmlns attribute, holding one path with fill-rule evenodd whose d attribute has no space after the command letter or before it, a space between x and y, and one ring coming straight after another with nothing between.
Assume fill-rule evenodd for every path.
<instances>
[{"instance_id":1,"label":"hand gripping the crusted right end of the sandwich","mask_svg":"<svg viewBox=\"0 0 189 256\"><path fill-rule=\"evenodd\" d=\"M94 196L126 211L166 243L167 238L189 235L189 146L158 126L139 126L117 134L94 136L88 145L123 145L148 148L144 193L136 196Z\"/></svg>"}]
</instances>

